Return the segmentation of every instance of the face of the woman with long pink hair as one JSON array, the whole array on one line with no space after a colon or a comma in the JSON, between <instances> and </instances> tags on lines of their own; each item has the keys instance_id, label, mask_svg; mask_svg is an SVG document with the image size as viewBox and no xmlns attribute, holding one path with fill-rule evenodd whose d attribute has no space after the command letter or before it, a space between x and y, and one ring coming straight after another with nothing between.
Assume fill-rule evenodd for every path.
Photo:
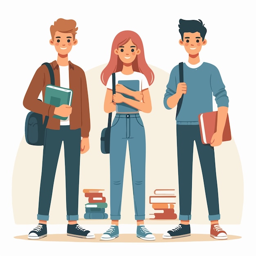
<instances>
[{"instance_id":1,"label":"face of the woman with long pink hair","mask_svg":"<svg viewBox=\"0 0 256 256\"><path fill-rule=\"evenodd\" d=\"M115 49L115 54L117 54L123 63L132 63L136 56L140 54L140 49L137 49L136 45L132 43L130 39L126 44L120 45L118 49Z\"/></svg>"}]
</instances>

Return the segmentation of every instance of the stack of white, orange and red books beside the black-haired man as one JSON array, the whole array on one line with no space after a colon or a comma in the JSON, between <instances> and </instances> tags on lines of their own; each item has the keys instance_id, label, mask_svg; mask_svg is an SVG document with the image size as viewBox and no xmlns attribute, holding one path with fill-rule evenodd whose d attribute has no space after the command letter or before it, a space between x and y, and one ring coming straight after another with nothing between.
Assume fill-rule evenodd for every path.
<instances>
[{"instance_id":1,"label":"stack of white, orange and red books beside the black-haired man","mask_svg":"<svg viewBox=\"0 0 256 256\"><path fill-rule=\"evenodd\" d=\"M150 220L175 220L175 198L175 189L155 189L154 195L149 197L149 203L155 210L150 213Z\"/></svg>"}]
</instances>

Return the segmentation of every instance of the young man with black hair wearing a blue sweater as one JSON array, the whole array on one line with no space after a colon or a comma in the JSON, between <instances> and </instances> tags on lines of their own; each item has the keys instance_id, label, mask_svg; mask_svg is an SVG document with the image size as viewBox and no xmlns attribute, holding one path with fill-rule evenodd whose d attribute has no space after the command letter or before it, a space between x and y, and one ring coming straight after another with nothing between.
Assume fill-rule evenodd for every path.
<instances>
[{"instance_id":1,"label":"young man with black hair wearing a blue sweater","mask_svg":"<svg viewBox=\"0 0 256 256\"><path fill-rule=\"evenodd\" d=\"M204 38L207 29L202 21L180 19L179 28L181 35L179 43L189 54L189 60L183 64L184 82L179 82L179 65L171 71L164 94L164 106L166 109L174 108L183 95L182 105L176 117L180 225L167 231L163 238L190 236L192 161L195 141L211 222L210 236L227 239L226 232L218 223L220 212L213 147L222 143L229 99L218 69L214 65L200 61L199 52L202 46L207 44ZM202 144L198 115L213 111L212 95L218 106L217 130L211 138L211 144Z\"/></svg>"}]
</instances>

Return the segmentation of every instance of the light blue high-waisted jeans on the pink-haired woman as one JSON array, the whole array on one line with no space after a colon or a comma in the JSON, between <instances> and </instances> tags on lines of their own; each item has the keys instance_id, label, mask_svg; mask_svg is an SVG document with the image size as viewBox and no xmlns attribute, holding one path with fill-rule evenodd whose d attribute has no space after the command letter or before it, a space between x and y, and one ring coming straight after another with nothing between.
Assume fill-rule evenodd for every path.
<instances>
[{"instance_id":1,"label":"light blue high-waisted jeans on the pink-haired woman","mask_svg":"<svg viewBox=\"0 0 256 256\"><path fill-rule=\"evenodd\" d=\"M110 131L110 219L120 220L127 141L135 220L145 219L146 141L139 114L116 114Z\"/></svg>"}]
</instances>

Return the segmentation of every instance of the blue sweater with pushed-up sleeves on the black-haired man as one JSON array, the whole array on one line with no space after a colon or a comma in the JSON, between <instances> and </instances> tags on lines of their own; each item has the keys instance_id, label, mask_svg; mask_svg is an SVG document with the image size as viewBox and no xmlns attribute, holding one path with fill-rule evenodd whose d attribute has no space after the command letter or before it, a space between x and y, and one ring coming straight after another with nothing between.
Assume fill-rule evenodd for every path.
<instances>
[{"instance_id":1,"label":"blue sweater with pushed-up sleeves on the black-haired man","mask_svg":"<svg viewBox=\"0 0 256 256\"><path fill-rule=\"evenodd\" d=\"M229 98L217 67L203 62L199 67L191 68L184 63L183 69L187 91L176 118L177 124L198 124L200 113L213 111L212 95L218 107L229 106ZM171 71L169 82L166 85L164 106L167 109L171 109L167 106L167 99L176 93L179 82L179 65L177 65Z\"/></svg>"}]
</instances>

